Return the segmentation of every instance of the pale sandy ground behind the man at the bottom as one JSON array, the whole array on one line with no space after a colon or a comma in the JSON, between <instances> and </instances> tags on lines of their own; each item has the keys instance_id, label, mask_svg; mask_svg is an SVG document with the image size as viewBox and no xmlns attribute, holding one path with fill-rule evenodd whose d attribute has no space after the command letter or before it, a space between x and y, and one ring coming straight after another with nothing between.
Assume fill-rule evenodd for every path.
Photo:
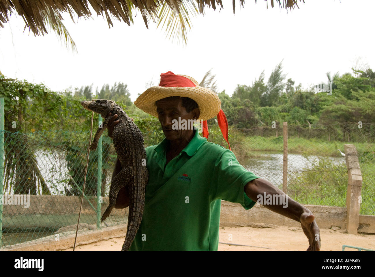
<instances>
[{"instance_id":1,"label":"pale sandy ground behind the man at the bottom","mask_svg":"<svg viewBox=\"0 0 375 277\"><path fill-rule=\"evenodd\" d=\"M375 235L350 235L339 231L321 229L321 251L341 251L342 245L375 249ZM79 245L76 251L120 251L125 237L97 241ZM229 240L232 239L232 240ZM305 251L308 239L301 228L281 226L273 228L220 227L219 242L243 244L248 246L219 243L219 251ZM259 248L259 247L268 247ZM72 251L69 248L64 251ZM358 251L345 248L345 251Z\"/></svg>"}]
</instances>

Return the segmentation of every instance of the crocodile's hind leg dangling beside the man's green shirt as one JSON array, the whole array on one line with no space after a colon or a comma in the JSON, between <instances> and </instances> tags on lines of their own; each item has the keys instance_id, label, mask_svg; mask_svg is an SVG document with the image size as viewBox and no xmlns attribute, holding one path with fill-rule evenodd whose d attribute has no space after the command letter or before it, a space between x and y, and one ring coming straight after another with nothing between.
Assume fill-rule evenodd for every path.
<instances>
[{"instance_id":1,"label":"crocodile's hind leg dangling beside the man's green shirt","mask_svg":"<svg viewBox=\"0 0 375 277\"><path fill-rule=\"evenodd\" d=\"M132 179L133 175L133 169L130 167L121 169L120 172L113 178L111 187L110 187L110 205L105 210L103 216L102 216L102 222L110 215L112 209L116 205L116 199L118 191L121 190L121 188L125 187L129 180Z\"/></svg>"}]
</instances>

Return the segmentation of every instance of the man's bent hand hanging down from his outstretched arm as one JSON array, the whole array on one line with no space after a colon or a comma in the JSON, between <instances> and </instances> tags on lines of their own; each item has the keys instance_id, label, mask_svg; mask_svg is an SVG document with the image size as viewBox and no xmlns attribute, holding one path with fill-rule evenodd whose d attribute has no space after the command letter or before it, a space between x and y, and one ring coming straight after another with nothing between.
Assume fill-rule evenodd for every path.
<instances>
[{"instance_id":1,"label":"man's bent hand hanging down from his outstretched arm","mask_svg":"<svg viewBox=\"0 0 375 277\"><path fill-rule=\"evenodd\" d=\"M306 211L301 215L300 223L303 232L309 239L309 248L307 248L307 251L319 251L320 233L317 221L315 221L315 216L311 211Z\"/></svg>"}]
</instances>

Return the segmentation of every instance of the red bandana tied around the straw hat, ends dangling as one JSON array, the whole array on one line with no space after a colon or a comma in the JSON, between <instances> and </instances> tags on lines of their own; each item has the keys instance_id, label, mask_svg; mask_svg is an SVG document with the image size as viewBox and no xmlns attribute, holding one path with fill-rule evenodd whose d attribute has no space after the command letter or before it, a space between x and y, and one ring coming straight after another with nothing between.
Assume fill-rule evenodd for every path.
<instances>
[{"instance_id":1,"label":"red bandana tied around the straw hat, ends dangling","mask_svg":"<svg viewBox=\"0 0 375 277\"><path fill-rule=\"evenodd\" d=\"M168 71L166 73L160 74L160 83L159 86L161 87L196 87L196 85L190 79L175 75L172 71ZM217 114L217 123L219 124L220 130L223 134L223 137L228 143L229 150L231 150L231 146L228 142L228 121L226 120L226 116L222 109L220 109L219 113ZM208 125L207 120L203 121L203 137L208 138Z\"/></svg>"}]
</instances>

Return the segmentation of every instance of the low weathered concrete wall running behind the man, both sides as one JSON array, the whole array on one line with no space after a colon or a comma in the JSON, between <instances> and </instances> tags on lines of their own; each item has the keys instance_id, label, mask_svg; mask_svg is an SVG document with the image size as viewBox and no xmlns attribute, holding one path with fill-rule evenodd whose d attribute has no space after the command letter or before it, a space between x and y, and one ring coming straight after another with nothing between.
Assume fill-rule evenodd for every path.
<instances>
[{"instance_id":1,"label":"low weathered concrete wall running behind the man, both sides","mask_svg":"<svg viewBox=\"0 0 375 277\"><path fill-rule=\"evenodd\" d=\"M30 207L20 205L4 205L3 227L25 228L54 226L56 229L71 224L77 224L80 208L78 196L30 196ZM96 197L91 197L90 202L96 208ZM103 197L102 211L108 206L108 197ZM305 205L315 215L318 226L321 229L345 230L347 229L347 209L330 206ZM113 209L108 221L127 219L128 209ZM96 222L96 214L87 200L83 200L81 223L93 224ZM258 203L250 210L245 210L238 203L222 201L220 226L252 226L252 227L276 227L290 226L300 227L297 221L276 214ZM360 215L358 232L375 233L375 216Z\"/></svg>"}]
</instances>

